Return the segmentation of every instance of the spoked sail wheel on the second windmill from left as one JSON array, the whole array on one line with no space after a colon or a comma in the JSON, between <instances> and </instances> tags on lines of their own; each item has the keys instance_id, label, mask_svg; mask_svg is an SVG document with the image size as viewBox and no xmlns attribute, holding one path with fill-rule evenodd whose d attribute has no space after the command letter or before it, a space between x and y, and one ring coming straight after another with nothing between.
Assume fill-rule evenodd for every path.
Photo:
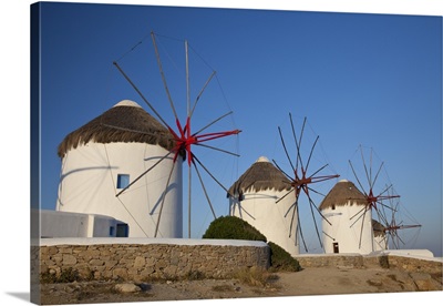
<instances>
[{"instance_id":1,"label":"spoked sail wheel on the second windmill from left","mask_svg":"<svg viewBox=\"0 0 443 306\"><path fill-rule=\"evenodd\" d=\"M321 166L317 167L315 171L311 171L311 160L312 160L312 155L313 155L313 151L316 149L316 145L318 144L319 141L319 136L317 135L315 137L315 140L312 141L310 145L310 149L308 153L308 157L306 159L306 156L302 156L303 151L302 151L302 141L303 141L303 135L305 135L305 129L306 129L306 124L307 124L307 118L303 119L302 125L301 125L301 130L299 135L297 135L296 133L296 129L295 129L295 124L293 124L293 120L292 120L292 115L291 113L289 113L289 121L290 121L290 125L291 125L291 132L292 132L292 137L293 137L293 142L296 144L296 162L292 162L292 159L288 152L282 132L280 126L278 128L278 132L280 135L280 140L281 140L281 144L285 151L285 154L288 159L288 162L290 164L290 167L292 170L293 175L288 174L287 172L285 172L275 160L272 160L272 162L276 164L276 166L288 177L288 180L291 182L291 188L289 190L288 193L286 193L282 197L278 198L276 201L276 203L278 204L281 200L284 200L287 195L289 195L290 193L295 193L295 203L291 205L290 210L291 212L287 212L287 215L289 213L291 213L291 225L289 228L289 235L291 235L292 233L292 224L295 218L297 217L297 228L296 228L296 237L298 237L298 235L300 235L301 241L303 243L305 246L305 251L308 252L308 247L306 245L306 241L303 237L303 232L302 232L302 227L301 227L301 223L300 223L300 216L299 216L299 201L300 201L300 196L305 195L306 200L308 201L309 204L309 208L310 208L310 213L312 216L312 221L313 221L313 225L315 225L315 230L316 230L316 234L318 237L318 241L320 243L321 248L323 248L321 238L320 238L320 233L319 233L319 228L317 226L317 221L316 221L316 215L315 215L315 211L317 211L317 213L321 216L322 220L327 221L329 223L329 221L322 215L322 213L320 212L320 210L317 207L315 201L312 200L311 193L315 194L319 194L324 196L323 194L321 194L320 192L318 192L317 190L313 188L313 185L320 182L324 182L328 180L332 180L332 178L337 178L339 177L338 174L333 174L333 175L319 175L320 172L322 172L328 164L322 164ZM309 147L309 146L308 146Z\"/></svg>"}]
</instances>

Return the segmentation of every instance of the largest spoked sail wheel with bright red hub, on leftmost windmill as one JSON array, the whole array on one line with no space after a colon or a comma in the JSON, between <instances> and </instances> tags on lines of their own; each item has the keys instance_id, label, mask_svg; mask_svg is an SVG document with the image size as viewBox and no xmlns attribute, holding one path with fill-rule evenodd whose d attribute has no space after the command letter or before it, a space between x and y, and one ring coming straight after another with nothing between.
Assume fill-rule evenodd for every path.
<instances>
[{"instance_id":1,"label":"largest spoked sail wheel with bright red hub, on leftmost windmill","mask_svg":"<svg viewBox=\"0 0 443 306\"><path fill-rule=\"evenodd\" d=\"M178 157L183 157L184 160L187 160L187 164L188 164L188 236L190 237L192 169L194 167L194 170L197 173L198 181L199 181L199 183L202 185L203 192L204 192L205 197L206 197L206 200L208 202L209 208L213 212L214 217L215 217L214 207L213 207L213 205L210 203L209 196L207 194L207 188L205 187L204 180L202 178L202 175L200 175L200 172L198 171L197 164L199 166L202 166L205 170L205 172L218 185L220 185L225 191L227 191L227 188L223 186L223 184L215 177L215 175L213 173L210 173L209 170L206 166L204 166L204 164L196 157L193 147L195 145L197 145L197 146L200 146L200 147L206 147L206 149L213 150L215 152L222 152L222 153L226 153L226 154L229 154L229 155L239 156L236 153L233 153L233 152L229 152L227 150L223 150L223 149L219 149L219 147L216 147L216 146L212 146L212 145L208 145L206 143L210 142L210 141L214 141L214 140L217 140L217 139L222 139L222 137L227 137L227 136L239 134L240 131L239 130L230 130L230 131L223 131L223 132L203 133L205 130L209 129L210 126L213 126L218 121L220 121L220 120L225 119L226 116L230 115L233 113L230 111L230 112L225 113L224 115L210 121L208 124L206 124L204 128L199 129L197 132L195 132L195 133L192 132L192 118L193 118L193 114L194 114L194 112L196 110L196 106L197 106L198 102L200 101L200 99L203 96L203 93L205 92L206 88L208 86L210 81L216 75L216 72L214 70L212 71L209 78L206 80L206 82L202 86L200 91L198 92L198 94L197 94L197 96L196 96L196 99L194 101L194 104L190 105L189 58L188 58L189 45L188 45L188 42L186 40L184 41L184 44L185 44L185 71L186 71L186 119L185 119L184 124L183 124L183 122L178 118L178 112L177 112L177 109L176 109L176 106L174 104L172 92L171 92L168 83L167 83L167 78L166 78L166 74L165 74L165 71L164 71L164 68L163 68L161 53L159 53L159 50L158 50L158 47L157 47L156 34L154 32L151 32L151 38L152 38L152 42L153 42L154 50L155 50L155 57L156 57L156 62L157 62L157 67L158 67L158 70L159 70L162 83L163 83L163 86L165 89L169 106L171 106L172 112L174 114L176 130L174 130L169 124L166 123L166 121L161 116L159 112L143 95L142 91L135 85L135 83L130 79L130 76L123 71L122 67L117 62L114 62L114 65L122 73L122 75L126 79L126 81L132 85L132 88L138 93L138 95L142 98L142 100L147 104L150 110L156 115L156 118L167 128L167 130L172 134L173 142L175 143L174 147L161 161L163 161L164 159L166 159L171 154L173 154L174 165L177 162ZM143 172L137 177L137 180L143 177L148 171L151 171L153 167L158 165L161 161L158 161L150 170ZM173 166L173 169L174 169L174 166ZM157 224L156 224L155 236L157 235L158 223L161 221L161 215L162 215L162 212L163 212L163 205L164 205L164 202L165 202L165 195L166 195L166 192L167 192L167 188L168 188L168 185L169 185L169 181L171 181L171 176L172 176L172 173L173 173L173 169L169 172L167 184L166 184L166 187L165 187L165 192L163 193L162 198L161 198L161 203L162 204L161 204L159 215L158 215L158 220L157 220ZM126 190L124 190L124 191L126 191ZM124 191L122 191L122 192L124 192Z\"/></svg>"}]
</instances>

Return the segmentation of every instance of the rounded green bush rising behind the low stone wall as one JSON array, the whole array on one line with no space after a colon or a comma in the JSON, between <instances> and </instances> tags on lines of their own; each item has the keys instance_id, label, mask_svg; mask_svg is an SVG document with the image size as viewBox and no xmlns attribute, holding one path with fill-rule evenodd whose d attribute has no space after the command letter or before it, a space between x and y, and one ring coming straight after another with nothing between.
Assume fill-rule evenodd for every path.
<instances>
[{"instance_id":1,"label":"rounded green bush rising behind the low stone wall","mask_svg":"<svg viewBox=\"0 0 443 306\"><path fill-rule=\"evenodd\" d=\"M220 216L209 224L204 239L241 239L267 242L266 236L236 216Z\"/></svg>"}]
</instances>

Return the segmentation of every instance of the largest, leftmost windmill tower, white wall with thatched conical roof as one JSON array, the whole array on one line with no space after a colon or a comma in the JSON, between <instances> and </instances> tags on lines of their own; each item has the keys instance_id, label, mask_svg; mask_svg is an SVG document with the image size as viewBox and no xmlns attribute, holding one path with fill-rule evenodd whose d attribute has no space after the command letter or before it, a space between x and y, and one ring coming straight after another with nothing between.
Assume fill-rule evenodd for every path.
<instances>
[{"instance_id":1,"label":"largest, leftmost windmill tower, white wall with thatched conical roof","mask_svg":"<svg viewBox=\"0 0 443 306\"><path fill-rule=\"evenodd\" d=\"M173 161L174 145L169 131L137 103L121 101L59 145L56 211L114 217L127 224L123 236L182 237L182 166L174 166L182 159Z\"/></svg>"}]
</instances>

